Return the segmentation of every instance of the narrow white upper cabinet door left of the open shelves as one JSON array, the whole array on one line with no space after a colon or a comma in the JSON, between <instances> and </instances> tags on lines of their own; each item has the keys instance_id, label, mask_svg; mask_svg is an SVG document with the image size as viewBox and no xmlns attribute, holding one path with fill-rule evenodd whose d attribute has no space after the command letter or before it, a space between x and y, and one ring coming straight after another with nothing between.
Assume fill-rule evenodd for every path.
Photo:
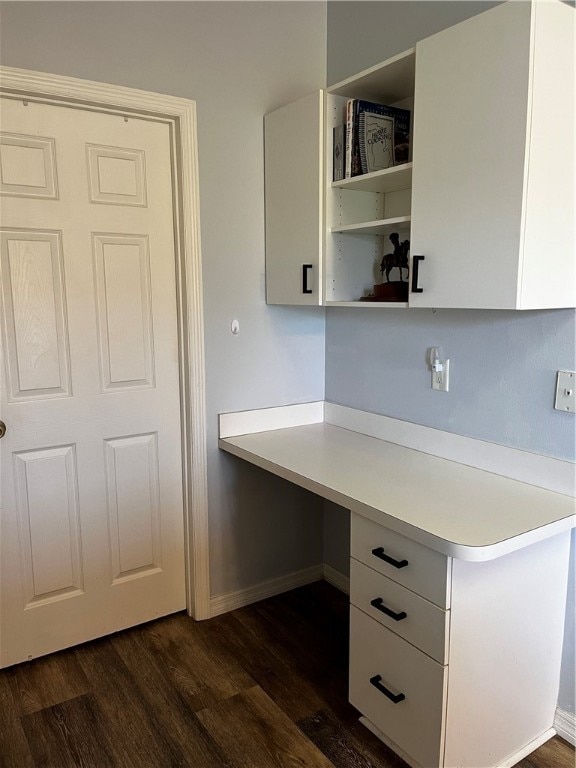
<instances>
[{"instance_id":1,"label":"narrow white upper cabinet door left of the open shelves","mask_svg":"<svg viewBox=\"0 0 576 768\"><path fill-rule=\"evenodd\" d=\"M268 304L322 303L323 103L318 91L264 119Z\"/></svg>"}]
</instances>

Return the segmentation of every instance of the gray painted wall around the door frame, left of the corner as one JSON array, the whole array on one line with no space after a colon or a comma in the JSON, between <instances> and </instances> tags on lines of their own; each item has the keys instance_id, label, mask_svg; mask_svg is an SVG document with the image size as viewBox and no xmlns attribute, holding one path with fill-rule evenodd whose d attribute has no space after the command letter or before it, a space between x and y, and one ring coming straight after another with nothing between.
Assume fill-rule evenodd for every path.
<instances>
[{"instance_id":1,"label":"gray painted wall around the door frame, left of the corner","mask_svg":"<svg viewBox=\"0 0 576 768\"><path fill-rule=\"evenodd\" d=\"M316 565L319 500L220 455L216 438L219 412L324 397L323 312L265 304L262 118L324 85L325 4L18 2L1 14L5 65L196 101L211 591Z\"/></svg>"}]
</instances>

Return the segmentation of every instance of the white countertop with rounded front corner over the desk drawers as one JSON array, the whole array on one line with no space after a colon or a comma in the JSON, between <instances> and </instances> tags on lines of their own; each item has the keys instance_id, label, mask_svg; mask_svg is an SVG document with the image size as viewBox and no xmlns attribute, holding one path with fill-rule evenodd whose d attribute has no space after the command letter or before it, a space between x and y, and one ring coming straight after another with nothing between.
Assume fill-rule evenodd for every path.
<instances>
[{"instance_id":1,"label":"white countertop with rounded front corner over the desk drawers","mask_svg":"<svg viewBox=\"0 0 576 768\"><path fill-rule=\"evenodd\" d=\"M570 496L331 424L221 438L219 446L462 560L490 560L576 526Z\"/></svg>"}]
</instances>

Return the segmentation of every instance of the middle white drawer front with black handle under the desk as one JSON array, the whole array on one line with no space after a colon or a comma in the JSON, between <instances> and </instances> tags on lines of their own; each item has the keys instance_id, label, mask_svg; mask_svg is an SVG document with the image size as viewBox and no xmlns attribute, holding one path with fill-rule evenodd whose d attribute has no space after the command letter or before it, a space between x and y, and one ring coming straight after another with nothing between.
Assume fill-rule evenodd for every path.
<instances>
[{"instance_id":1,"label":"middle white drawer front with black handle under the desk","mask_svg":"<svg viewBox=\"0 0 576 768\"><path fill-rule=\"evenodd\" d=\"M350 560L350 602L440 664L448 663L449 611L354 558Z\"/></svg>"}]
</instances>

